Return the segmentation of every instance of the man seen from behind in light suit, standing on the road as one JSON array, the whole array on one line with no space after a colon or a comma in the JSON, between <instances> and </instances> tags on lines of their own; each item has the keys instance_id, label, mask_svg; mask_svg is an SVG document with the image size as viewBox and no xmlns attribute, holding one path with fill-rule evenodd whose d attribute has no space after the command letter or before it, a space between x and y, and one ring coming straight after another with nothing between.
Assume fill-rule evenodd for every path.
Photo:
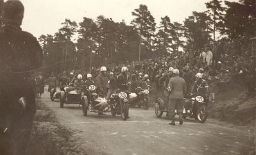
<instances>
[{"instance_id":1,"label":"man seen from behind in light suit, standing on the road","mask_svg":"<svg viewBox=\"0 0 256 155\"><path fill-rule=\"evenodd\" d=\"M180 72L178 69L173 70L173 76L171 77L168 90L171 92L169 95L169 107L168 113L171 117L171 125L175 125L175 110L179 115L180 125L183 124L182 112L183 112L183 97L187 93L187 86L185 80L179 76Z\"/></svg>"}]
</instances>

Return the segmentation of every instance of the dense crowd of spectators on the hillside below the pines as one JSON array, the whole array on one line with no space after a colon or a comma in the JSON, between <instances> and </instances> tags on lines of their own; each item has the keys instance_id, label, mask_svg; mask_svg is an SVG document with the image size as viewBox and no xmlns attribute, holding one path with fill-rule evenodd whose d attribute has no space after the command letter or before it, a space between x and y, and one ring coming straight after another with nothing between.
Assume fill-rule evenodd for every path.
<instances>
[{"instance_id":1,"label":"dense crowd of spectators on the hillside below the pines","mask_svg":"<svg viewBox=\"0 0 256 155\"><path fill-rule=\"evenodd\" d=\"M135 74L137 77L148 74L149 81L155 83L157 91L162 90L162 83L159 83L160 77L164 76L169 67L180 70L180 76L183 77L190 87L195 80L195 74L203 73L203 79L208 83L215 81L229 81L234 77L237 83L246 83L255 86L255 41L248 37L237 37L234 40L221 39L214 42L213 45L205 45L199 51L188 51L187 53L173 53L169 56L149 59L144 61L132 61L123 64L107 65L108 73L113 72L115 76L120 74L121 67L128 67L129 74ZM250 61L252 60L252 61ZM73 72L74 75L82 74L86 80L87 74L92 74L96 78L99 69L92 67L91 70L67 70L64 74ZM56 80L64 76L56 75ZM57 82L58 83L58 82ZM58 84L56 84L58 85ZM252 88L251 88L252 89ZM254 89L254 88L253 88Z\"/></svg>"}]
</instances>

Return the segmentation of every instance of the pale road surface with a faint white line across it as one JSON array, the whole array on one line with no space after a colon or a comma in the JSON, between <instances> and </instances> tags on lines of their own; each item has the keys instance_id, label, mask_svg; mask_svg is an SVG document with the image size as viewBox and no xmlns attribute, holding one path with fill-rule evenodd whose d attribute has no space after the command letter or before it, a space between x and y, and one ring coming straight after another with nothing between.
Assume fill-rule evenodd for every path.
<instances>
[{"instance_id":1,"label":"pale road surface with a faint white line across it","mask_svg":"<svg viewBox=\"0 0 256 155\"><path fill-rule=\"evenodd\" d=\"M164 115L157 118L153 108L130 108L130 118L110 113L102 116L88 112L83 117L81 106L51 101L45 93L40 99L55 111L58 121L77 131L81 145L89 154L250 154L255 151L255 131L200 124L186 119L182 126L170 126ZM92 151L91 148L98 152ZM91 152L90 152L91 151Z\"/></svg>"}]
</instances>

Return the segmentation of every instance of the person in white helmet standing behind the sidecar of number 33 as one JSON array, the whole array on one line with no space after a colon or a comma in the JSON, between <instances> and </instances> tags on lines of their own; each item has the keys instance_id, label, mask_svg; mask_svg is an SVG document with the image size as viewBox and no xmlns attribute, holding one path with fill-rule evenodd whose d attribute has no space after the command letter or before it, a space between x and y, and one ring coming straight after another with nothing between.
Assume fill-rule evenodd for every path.
<instances>
[{"instance_id":1,"label":"person in white helmet standing behind the sidecar of number 33","mask_svg":"<svg viewBox=\"0 0 256 155\"><path fill-rule=\"evenodd\" d=\"M100 74L96 77L96 85L98 95L101 97L106 97L107 95L107 68L101 67Z\"/></svg>"}]
</instances>

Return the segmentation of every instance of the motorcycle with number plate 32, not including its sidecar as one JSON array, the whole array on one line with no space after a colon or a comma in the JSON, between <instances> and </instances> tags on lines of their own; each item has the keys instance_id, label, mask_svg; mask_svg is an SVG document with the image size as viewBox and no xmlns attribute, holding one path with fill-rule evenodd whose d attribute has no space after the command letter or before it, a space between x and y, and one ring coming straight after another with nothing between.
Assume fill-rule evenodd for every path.
<instances>
[{"instance_id":1,"label":"motorcycle with number plate 32, not including its sidecar","mask_svg":"<svg viewBox=\"0 0 256 155\"><path fill-rule=\"evenodd\" d=\"M184 99L183 118L191 117L198 120L200 123L204 123L207 120L207 102L206 97L202 95L191 95L189 99Z\"/></svg>"}]
</instances>

